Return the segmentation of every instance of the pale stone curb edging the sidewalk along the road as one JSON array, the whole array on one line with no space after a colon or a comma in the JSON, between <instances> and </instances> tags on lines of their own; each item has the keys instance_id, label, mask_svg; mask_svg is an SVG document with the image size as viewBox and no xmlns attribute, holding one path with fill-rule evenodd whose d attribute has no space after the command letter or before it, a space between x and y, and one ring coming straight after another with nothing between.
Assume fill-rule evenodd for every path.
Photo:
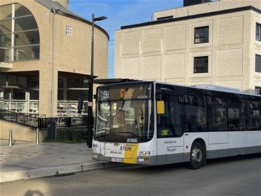
<instances>
[{"instance_id":1,"label":"pale stone curb edging the sidewalk along the road","mask_svg":"<svg viewBox=\"0 0 261 196\"><path fill-rule=\"evenodd\" d=\"M73 174L77 172L86 172L94 169L103 169L108 167L122 166L122 163L99 162L99 163L81 163L74 165L64 165L58 167L45 167L40 169L28 169L15 172L0 173L0 183L19 181L26 179L38 179L47 176L59 176L63 174Z\"/></svg>"}]
</instances>

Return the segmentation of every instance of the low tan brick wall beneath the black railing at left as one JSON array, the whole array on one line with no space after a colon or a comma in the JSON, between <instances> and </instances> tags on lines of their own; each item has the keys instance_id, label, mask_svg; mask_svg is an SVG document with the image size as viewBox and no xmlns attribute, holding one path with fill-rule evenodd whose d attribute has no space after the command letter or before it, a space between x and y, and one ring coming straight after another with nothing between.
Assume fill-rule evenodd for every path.
<instances>
[{"instance_id":1,"label":"low tan brick wall beneath the black railing at left","mask_svg":"<svg viewBox=\"0 0 261 196\"><path fill-rule=\"evenodd\" d=\"M8 140L10 129L13 130L13 140L35 142L36 128L22 126L17 123L0 120L0 139ZM39 140L42 142L47 137L46 130L40 130Z\"/></svg>"}]
</instances>

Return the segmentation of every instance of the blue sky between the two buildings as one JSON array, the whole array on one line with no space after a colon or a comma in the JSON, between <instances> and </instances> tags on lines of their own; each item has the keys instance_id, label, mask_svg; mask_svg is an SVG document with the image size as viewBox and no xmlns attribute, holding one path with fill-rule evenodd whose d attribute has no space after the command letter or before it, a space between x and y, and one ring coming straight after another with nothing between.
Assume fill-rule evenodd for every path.
<instances>
[{"instance_id":1,"label":"blue sky between the two buildings","mask_svg":"<svg viewBox=\"0 0 261 196\"><path fill-rule=\"evenodd\" d=\"M155 11L178 8L183 0L70 0L69 10L81 17L91 20L95 17L106 16L107 20L97 22L110 36L109 41L109 78L113 77L114 65L114 31L121 26L151 21Z\"/></svg>"}]
</instances>

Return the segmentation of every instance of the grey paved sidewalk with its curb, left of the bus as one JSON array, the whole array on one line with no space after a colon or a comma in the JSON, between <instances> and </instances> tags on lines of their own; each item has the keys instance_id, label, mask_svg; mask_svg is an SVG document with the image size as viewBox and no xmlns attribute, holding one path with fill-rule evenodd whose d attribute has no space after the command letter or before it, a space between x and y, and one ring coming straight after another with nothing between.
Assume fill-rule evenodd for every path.
<instances>
[{"instance_id":1,"label":"grey paved sidewalk with its curb, left of the bus","mask_svg":"<svg viewBox=\"0 0 261 196\"><path fill-rule=\"evenodd\" d=\"M118 166L91 159L86 144L0 140L0 183Z\"/></svg>"}]
</instances>

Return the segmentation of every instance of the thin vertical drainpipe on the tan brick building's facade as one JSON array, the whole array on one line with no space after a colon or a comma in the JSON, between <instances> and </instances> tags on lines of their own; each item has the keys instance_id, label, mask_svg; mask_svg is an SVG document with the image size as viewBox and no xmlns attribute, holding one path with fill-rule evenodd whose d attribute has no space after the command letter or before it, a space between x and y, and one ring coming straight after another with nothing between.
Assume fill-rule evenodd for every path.
<instances>
[{"instance_id":1,"label":"thin vertical drainpipe on the tan brick building's facade","mask_svg":"<svg viewBox=\"0 0 261 196\"><path fill-rule=\"evenodd\" d=\"M52 9L52 69L51 69L51 117L54 117L54 44L55 44L55 15L57 9Z\"/></svg>"}]
</instances>

